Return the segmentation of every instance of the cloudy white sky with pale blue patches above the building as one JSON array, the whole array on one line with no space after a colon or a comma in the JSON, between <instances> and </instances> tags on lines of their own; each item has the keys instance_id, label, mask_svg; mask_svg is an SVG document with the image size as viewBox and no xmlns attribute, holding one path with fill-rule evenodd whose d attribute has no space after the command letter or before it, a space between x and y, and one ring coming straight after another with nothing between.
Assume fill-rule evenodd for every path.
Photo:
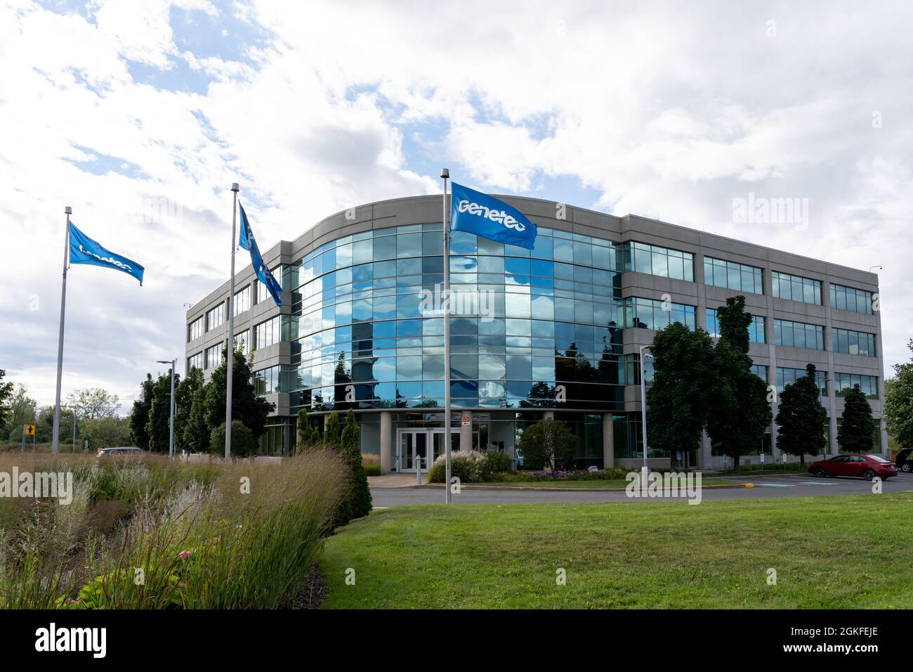
<instances>
[{"instance_id":1,"label":"cloudy white sky with pale blue patches above the building","mask_svg":"<svg viewBox=\"0 0 913 672\"><path fill-rule=\"evenodd\" d=\"M475 6L472 6L475 5ZM913 336L913 5L0 0L0 368L53 403L63 207L128 275L68 275L64 392L129 408L227 277L237 181L261 247L440 167L545 197L883 265ZM504 3L503 5L508 5ZM743 223L734 199L807 199ZM180 370L180 369L179 369Z\"/></svg>"}]
</instances>

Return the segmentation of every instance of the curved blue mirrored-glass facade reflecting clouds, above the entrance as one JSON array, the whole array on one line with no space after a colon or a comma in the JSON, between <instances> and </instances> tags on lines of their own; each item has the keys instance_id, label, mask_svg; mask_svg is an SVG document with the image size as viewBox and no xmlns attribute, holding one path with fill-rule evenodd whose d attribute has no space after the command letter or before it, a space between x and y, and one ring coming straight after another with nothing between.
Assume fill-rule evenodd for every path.
<instances>
[{"instance_id":1,"label":"curved blue mirrored-glass facade reflecting clouds, above the entrance","mask_svg":"<svg viewBox=\"0 0 913 672\"><path fill-rule=\"evenodd\" d=\"M283 273L294 292L284 373L293 409L443 406L442 238L440 223L375 229ZM624 246L543 228L534 251L461 231L451 240L455 407L547 408L563 386L562 408L623 410L634 380L622 330L656 323L653 302L621 298ZM679 312L693 328L694 307Z\"/></svg>"}]
</instances>

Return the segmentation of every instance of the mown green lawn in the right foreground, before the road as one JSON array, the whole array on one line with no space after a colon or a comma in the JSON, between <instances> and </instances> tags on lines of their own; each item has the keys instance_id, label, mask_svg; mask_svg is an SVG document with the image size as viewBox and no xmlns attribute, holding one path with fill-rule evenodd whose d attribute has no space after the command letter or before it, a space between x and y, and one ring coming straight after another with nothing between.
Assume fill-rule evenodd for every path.
<instances>
[{"instance_id":1,"label":"mown green lawn in the right foreground, before the road","mask_svg":"<svg viewBox=\"0 0 913 672\"><path fill-rule=\"evenodd\" d=\"M325 606L910 608L911 507L900 493L391 508L327 540Z\"/></svg>"}]
</instances>

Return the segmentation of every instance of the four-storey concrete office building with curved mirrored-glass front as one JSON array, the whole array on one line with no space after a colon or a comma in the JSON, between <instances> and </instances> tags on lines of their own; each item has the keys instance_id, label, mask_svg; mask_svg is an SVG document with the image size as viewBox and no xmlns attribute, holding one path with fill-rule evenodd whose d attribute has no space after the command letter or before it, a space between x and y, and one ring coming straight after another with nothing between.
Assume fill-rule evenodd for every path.
<instances>
[{"instance_id":1,"label":"four-storey concrete office building with curved mirrored-glass front","mask_svg":"<svg viewBox=\"0 0 913 672\"><path fill-rule=\"evenodd\" d=\"M507 200L537 223L534 250L464 232L451 237L450 441L456 449L504 451L521 463L516 447L525 427L554 417L574 432L577 466L635 464L643 459L638 348L656 329L680 322L713 333L715 308L726 296L751 297L752 357L766 376L779 361L771 350L793 350L767 332L774 324L812 322L805 293L796 313L773 304L783 302L782 292L769 291L771 278L792 277L796 264L778 270L767 251L760 249L765 259L758 259L757 246L745 245L753 256L728 255L734 241L691 229L580 208L567 208L569 216L558 219L555 204ZM331 412L355 411L362 453L379 453L384 471L415 470L419 462L426 468L443 450L440 212L441 197L384 201L282 241L264 255L282 284L279 308L249 268L236 277L236 297L244 297L234 311L236 337L244 334L252 351L257 393L277 404L263 453L294 451L301 408L317 424ZM813 264L798 268L811 275ZM719 277L707 277L707 269ZM876 293L876 276L846 271L839 277L842 294L847 287L855 287L854 295ZM820 287L829 277L809 282ZM227 294L225 283L188 311L188 366L202 358L212 368L211 351L227 337L227 320L216 319L226 315ZM809 297L829 295L819 290ZM879 315L840 313L839 327L828 326L828 308L809 328L837 334L848 323L878 333ZM822 336L805 347L820 346L824 354L824 343ZM880 359L841 357L870 360L858 370L853 362L837 368L880 379ZM820 357L809 361L835 370ZM647 366L648 383L651 372ZM655 464L668 459L649 448L647 457ZM686 456L693 465L712 459L709 447Z\"/></svg>"}]
</instances>

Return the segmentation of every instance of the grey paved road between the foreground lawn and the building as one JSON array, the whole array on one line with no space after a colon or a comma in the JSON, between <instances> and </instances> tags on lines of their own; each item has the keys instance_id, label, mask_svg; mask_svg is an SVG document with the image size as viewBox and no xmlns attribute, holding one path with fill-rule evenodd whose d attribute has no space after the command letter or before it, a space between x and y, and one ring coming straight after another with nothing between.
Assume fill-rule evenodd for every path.
<instances>
[{"instance_id":1,"label":"grey paved road between the foreground lawn and the building","mask_svg":"<svg viewBox=\"0 0 913 672\"><path fill-rule=\"evenodd\" d=\"M872 484L861 478L814 478L810 475L751 476L731 478L733 483L753 483L752 488L705 488L703 499L744 499L750 497L807 497L821 495L867 495ZM900 474L882 483L885 493L913 492L913 475ZM444 489L435 486L373 487L374 507L401 507L409 504L443 504ZM545 490L498 490L463 488L454 496L456 504L531 504L537 502L643 502L656 501L625 496L624 491L592 490L550 492Z\"/></svg>"}]
</instances>

